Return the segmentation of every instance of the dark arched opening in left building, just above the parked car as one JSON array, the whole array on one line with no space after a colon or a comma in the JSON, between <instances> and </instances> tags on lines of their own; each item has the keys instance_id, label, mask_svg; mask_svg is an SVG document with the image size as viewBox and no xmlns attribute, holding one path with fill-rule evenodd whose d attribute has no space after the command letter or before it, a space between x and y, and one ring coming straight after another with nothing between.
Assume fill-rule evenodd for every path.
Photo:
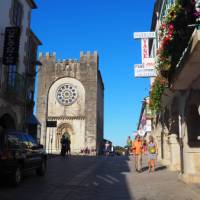
<instances>
[{"instance_id":1,"label":"dark arched opening in left building, just above the parked car","mask_svg":"<svg viewBox=\"0 0 200 200\"><path fill-rule=\"evenodd\" d=\"M6 113L0 118L0 127L4 130L15 130L15 120L10 114Z\"/></svg>"}]
</instances>

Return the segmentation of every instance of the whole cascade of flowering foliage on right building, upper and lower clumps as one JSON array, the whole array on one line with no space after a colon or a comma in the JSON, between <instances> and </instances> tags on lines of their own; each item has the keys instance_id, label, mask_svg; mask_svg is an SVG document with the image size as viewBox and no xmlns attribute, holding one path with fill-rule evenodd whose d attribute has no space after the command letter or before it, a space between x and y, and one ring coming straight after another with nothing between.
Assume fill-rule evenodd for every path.
<instances>
[{"instance_id":1,"label":"whole cascade of flowering foliage on right building, upper and lower clumps","mask_svg":"<svg viewBox=\"0 0 200 200\"><path fill-rule=\"evenodd\" d=\"M193 32L188 24L195 23L194 4L192 1L176 0L166 16L161 20L159 28L159 48L156 55L156 77L150 94L150 108L154 112L161 109L161 98L170 73L175 69L182 52L188 46Z\"/></svg>"}]
</instances>

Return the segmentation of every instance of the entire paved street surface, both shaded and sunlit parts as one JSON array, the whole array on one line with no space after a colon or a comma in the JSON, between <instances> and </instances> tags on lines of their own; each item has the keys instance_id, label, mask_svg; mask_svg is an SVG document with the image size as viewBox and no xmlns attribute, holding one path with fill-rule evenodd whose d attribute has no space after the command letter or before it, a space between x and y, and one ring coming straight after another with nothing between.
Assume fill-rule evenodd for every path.
<instances>
[{"instance_id":1,"label":"entire paved street surface, both shaded and sunlit parts","mask_svg":"<svg viewBox=\"0 0 200 200\"><path fill-rule=\"evenodd\" d=\"M0 186L0 200L199 200L198 186L157 166L140 174L127 157L54 157L46 177L25 176L18 188Z\"/></svg>"}]
</instances>

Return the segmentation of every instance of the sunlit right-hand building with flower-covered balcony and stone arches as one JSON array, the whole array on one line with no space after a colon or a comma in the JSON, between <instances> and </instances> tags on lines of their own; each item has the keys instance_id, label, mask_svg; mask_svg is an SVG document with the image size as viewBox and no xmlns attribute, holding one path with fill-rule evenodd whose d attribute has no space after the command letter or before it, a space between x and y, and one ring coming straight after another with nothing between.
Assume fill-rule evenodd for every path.
<instances>
[{"instance_id":1,"label":"sunlit right-hand building with flower-covered balcony and stone arches","mask_svg":"<svg viewBox=\"0 0 200 200\"><path fill-rule=\"evenodd\" d=\"M158 77L151 87L156 111L152 133L159 158L180 171L185 182L200 182L200 2L157 0L151 43Z\"/></svg>"}]
</instances>

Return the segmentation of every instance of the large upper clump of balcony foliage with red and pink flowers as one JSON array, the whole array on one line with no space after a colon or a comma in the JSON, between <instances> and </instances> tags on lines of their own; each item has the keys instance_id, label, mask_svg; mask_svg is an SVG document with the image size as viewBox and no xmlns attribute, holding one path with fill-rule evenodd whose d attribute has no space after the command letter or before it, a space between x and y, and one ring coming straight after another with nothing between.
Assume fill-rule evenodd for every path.
<instances>
[{"instance_id":1,"label":"large upper clump of balcony foliage with red and pink flowers","mask_svg":"<svg viewBox=\"0 0 200 200\"><path fill-rule=\"evenodd\" d=\"M161 20L159 28L159 48L157 51L157 70L163 75L163 71L169 71L178 63L183 50L187 47L192 29L188 24L194 21L191 17L193 6L191 3L183 3L177 0L167 15ZM166 78L169 73L165 73Z\"/></svg>"}]
</instances>

